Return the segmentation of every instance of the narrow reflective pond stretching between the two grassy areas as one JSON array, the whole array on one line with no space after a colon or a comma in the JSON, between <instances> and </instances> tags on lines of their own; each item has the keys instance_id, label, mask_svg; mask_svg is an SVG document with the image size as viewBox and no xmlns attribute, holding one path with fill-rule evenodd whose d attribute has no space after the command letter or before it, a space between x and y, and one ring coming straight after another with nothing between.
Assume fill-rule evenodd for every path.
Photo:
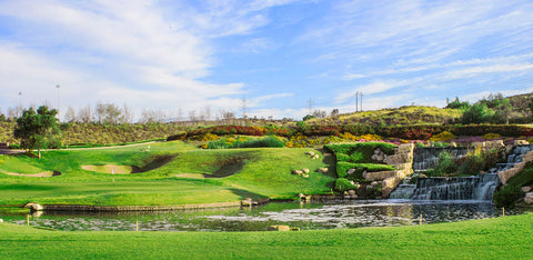
<instances>
[{"instance_id":1,"label":"narrow reflective pond stretching between the two grassy areas","mask_svg":"<svg viewBox=\"0 0 533 260\"><path fill-rule=\"evenodd\" d=\"M529 209L530 211L532 209ZM527 211L516 209L505 214ZM262 231L285 224L301 230L390 227L451 222L502 216L484 201L373 200L341 203L272 202L252 209L225 208L134 213L42 212L30 226L66 231ZM422 217L422 221L421 221ZM0 213L6 222L26 224L23 213Z\"/></svg>"}]
</instances>

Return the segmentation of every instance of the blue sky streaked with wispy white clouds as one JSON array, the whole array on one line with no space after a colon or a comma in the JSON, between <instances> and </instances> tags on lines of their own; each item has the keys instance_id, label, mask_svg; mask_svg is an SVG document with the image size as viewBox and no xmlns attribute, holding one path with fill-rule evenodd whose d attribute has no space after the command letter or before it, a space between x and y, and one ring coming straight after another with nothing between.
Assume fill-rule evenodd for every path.
<instances>
[{"instance_id":1,"label":"blue sky streaked with wispy white clouds","mask_svg":"<svg viewBox=\"0 0 533 260\"><path fill-rule=\"evenodd\" d=\"M356 93L363 110L527 93L531 13L531 0L0 0L0 109L187 119L245 103L301 119L353 112Z\"/></svg>"}]
</instances>

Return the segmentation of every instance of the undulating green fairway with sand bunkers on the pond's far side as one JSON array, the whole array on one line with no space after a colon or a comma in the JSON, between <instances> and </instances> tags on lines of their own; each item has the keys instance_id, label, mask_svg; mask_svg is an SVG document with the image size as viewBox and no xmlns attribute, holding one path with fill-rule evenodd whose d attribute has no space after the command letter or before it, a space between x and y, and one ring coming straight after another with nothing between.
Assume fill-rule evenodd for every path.
<instances>
[{"instance_id":1,"label":"undulating green fairway with sand bunkers on the pond's far side","mask_svg":"<svg viewBox=\"0 0 533 260\"><path fill-rule=\"evenodd\" d=\"M310 149L253 148L199 150L181 141L108 149L43 152L42 159L11 157L0 171L59 171L52 178L14 177L0 173L0 204L39 203L102 206L168 206L212 203L270 197L293 198L296 193L325 193L333 178L314 172L332 164L331 158L312 160ZM318 151L315 151L318 152ZM6 156L3 156L6 157ZM82 166L134 166L143 172L109 174L82 170ZM308 168L309 178L291 174ZM180 173L212 177L193 179ZM113 182L114 179L114 182Z\"/></svg>"}]
</instances>

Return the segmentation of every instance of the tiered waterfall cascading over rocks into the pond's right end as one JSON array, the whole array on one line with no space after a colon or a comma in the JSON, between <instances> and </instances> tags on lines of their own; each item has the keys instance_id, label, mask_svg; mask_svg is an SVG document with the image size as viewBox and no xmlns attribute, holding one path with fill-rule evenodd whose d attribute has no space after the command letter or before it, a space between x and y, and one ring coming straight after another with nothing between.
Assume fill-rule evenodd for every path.
<instances>
[{"instance_id":1,"label":"tiered waterfall cascading over rocks into the pond's right end","mask_svg":"<svg viewBox=\"0 0 533 260\"><path fill-rule=\"evenodd\" d=\"M515 147L513 152L507 156L506 163L497 163L495 168L492 168L484 174L472 177L420 178L416 184L400 184L396 190L391 193L390 198L412 200L492 200L492 196L500 184L497 172L511 169L514 163L522 162L523 154L532 150L533 144ZM445 150L439 149L439 151L442 152ZM415 158L416 154L419 154L419 163L423 161L428 163L432 158L439 160L439 153L428 148L425 151L419 151L419 153L416 153L415 150ZM420 168L425 168L426 164L419 166L420 171ZM413 169L414 167L415 163L413 163Z\"/></svg>"}]
</instances>

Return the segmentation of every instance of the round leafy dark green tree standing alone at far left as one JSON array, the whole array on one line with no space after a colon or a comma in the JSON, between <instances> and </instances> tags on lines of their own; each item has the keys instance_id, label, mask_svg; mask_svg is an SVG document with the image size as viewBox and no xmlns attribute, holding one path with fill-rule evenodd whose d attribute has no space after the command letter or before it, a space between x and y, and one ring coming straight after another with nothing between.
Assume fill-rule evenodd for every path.
<instances>
[{"instance_id":1,"label":"round leafy dark green tree standing alone at far left","mask_svg":"<svg viewBox=\"0 0 533 260\"><path fill-rule=\"evenodd\" d=\"M33 108L23 110L13 131L14 138L20 139L20 147L30 152L37 148L40 159L41 148L60 131L57 114L58 110L49 110L47 106L39 107L37 112Z\"/></svg>"}]
</instances>

